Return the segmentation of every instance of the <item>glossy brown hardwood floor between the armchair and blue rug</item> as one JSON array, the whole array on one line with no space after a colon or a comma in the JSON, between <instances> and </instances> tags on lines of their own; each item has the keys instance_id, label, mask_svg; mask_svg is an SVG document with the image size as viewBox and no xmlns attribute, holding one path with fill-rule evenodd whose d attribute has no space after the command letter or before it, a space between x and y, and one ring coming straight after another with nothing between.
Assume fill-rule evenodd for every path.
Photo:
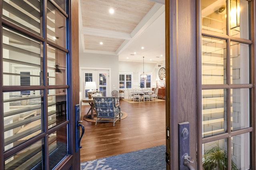
<instances>
[{"instance_id":1,"label":"glossy brown hardwood floor between the armchair and blue rug","mask_svg":"<svg viewBox=\"0 0 256 170\"><path fill-rule=\"evenodd\" d=\"M81 162L165 145L165 101L130 104L121 100L120 106L128 116L114 127L111 122L95 125L83 120ZM82 107L82 117L89 108Z\"/></svg>"}]
</instances>

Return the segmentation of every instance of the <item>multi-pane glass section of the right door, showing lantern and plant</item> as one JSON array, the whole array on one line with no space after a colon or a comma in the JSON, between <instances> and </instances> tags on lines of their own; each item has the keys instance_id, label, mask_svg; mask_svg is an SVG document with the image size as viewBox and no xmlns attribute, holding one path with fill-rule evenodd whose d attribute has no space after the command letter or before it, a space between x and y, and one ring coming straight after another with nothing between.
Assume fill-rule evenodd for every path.
<instances>
[{"instance_id":1,"label":"multi-pane glass section of the right door, showing lantern and plant","mask_svg":"<svg viewBox=\"0 0 256 170\"><path fill-rule=\"evenodd\" d=\"M201 1L202 166L208 169L214 161L222 162L218 169L247 170L255 98L251 2L220 0L217 11L209 10L215 2ZM221 159L214 152L222 152Z\"/></svg>"}]
</instances>

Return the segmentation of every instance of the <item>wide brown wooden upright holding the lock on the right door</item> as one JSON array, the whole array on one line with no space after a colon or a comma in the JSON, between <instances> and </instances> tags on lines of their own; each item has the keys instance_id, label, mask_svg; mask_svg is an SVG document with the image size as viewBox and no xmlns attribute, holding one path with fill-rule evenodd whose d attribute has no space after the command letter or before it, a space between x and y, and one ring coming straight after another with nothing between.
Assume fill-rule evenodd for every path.
<instances>
[{"instance_id":1,"label":"wide brown wooden upright holding the lock on the right door","mask_svg":"<svg viewBox=\"0 0 256 170\"><path fill-rule=\"evenodd\" d=\"M178 123L190 123L190 156L197 160L196 0L166 0L166 169L179 169ZM191 133L193 132L193 134ZM171 152L170 152L171 151ZM196 161L192 166L197 169Z\"/></svg>"}]
</instances>

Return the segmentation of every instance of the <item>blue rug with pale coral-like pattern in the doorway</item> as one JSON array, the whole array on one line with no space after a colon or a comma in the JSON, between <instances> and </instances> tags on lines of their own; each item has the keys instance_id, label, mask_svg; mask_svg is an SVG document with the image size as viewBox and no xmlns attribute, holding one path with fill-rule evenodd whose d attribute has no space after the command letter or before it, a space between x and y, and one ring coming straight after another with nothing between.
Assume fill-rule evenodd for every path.
<instances>
[{"instance_id":1,"label":"blue rug with pale coral-like pattern in the doorway","mask_svg":"<svg viewBox=\"0 0 256 170\"><path fill-rule=\"evenodd\" d=\"M165 170L165 145L81 162L81 170Z\"/></svg>"}]
</instances>

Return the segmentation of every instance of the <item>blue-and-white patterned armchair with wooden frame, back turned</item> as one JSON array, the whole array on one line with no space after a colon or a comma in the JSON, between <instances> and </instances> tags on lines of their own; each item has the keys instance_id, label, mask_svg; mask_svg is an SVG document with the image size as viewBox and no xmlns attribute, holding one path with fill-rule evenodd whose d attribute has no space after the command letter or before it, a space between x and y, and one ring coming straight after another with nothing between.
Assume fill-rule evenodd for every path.
<instances>
[{"instance_id":1,"label":"blue-and-white patterned armchair with wooden frame, back turned","mask_svg":"<svg viewBox=\"0 0 256 170\"><path fill-rule=\"evenodd\" d=\"M116 97L93 97L94 107L97 113L96 124L98 121L115 122L121 119L120 106L116 104ZM112 120L111 120L112 119Z\"/></svg>"}]
</instances>

